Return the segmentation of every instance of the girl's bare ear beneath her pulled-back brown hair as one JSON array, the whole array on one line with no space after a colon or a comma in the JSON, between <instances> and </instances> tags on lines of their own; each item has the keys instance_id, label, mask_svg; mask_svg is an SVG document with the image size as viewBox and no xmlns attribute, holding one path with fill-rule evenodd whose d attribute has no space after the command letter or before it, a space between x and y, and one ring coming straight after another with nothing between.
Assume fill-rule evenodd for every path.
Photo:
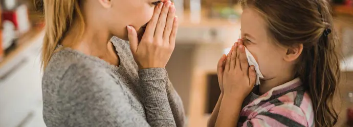
<instances>
[{"instance_id":1,"label":"girl's bare ear beneath her pulled-back brown hair","mask_svg":"<svg viewBox=\"0 0 353 127\"><path fill-rule=\"evenodd\" d=\"M295 46L289 47L287 48L287 52L284 55L283 59L288 62L294 61L300 56L302 51L303 44L297 44Z\"/></svg>"}]
</instances>

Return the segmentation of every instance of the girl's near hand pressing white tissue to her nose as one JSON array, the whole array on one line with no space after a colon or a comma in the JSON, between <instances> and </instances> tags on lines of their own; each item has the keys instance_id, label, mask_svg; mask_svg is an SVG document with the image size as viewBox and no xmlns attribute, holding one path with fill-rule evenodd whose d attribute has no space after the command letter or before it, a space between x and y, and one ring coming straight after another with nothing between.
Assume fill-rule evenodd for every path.
<instances>
[{"instance_id":1,"label":"girl's near hand pressing white tissue to her nose","mask_svg":"<svg viewBox=\"0 0 353 127\"><path fill-rule=\"evenodd\" d=\"M225 98L244 100L255 85L256 72L249 68L242 40L238 40L230 50L223 74Z\"/></svg>"}]
</instances>

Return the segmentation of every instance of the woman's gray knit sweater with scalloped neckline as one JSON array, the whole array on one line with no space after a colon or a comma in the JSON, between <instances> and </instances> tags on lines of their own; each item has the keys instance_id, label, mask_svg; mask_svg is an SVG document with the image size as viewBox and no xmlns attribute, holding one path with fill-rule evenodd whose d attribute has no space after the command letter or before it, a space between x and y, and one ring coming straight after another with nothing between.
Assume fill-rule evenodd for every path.
<instances>
[{"instance_id":1,"label":"woman's gray knit sweater with scalloped neckline","mask_svg":"<svg viewBox=\"0 0 353 127\"><path fill-rule=\"evenodd\" d=\"M128 42L111 41L119 67L70 48L53 54L42 79L47 126L184 126L166 70L138 70Z\"/></svg>"}]
</instances>

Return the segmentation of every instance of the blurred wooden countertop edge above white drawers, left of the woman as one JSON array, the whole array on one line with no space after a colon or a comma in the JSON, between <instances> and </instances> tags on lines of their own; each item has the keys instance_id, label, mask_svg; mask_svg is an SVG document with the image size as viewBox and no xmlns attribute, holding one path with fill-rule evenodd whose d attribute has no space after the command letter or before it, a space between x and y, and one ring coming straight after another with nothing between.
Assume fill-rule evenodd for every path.
<instances>
[{"instance_id":1,"label":"blurred wooden countertop edge above white drawers, left of the woman","mask_svg":"<svg viewBox=\"0 0 353 127\"><path fill-rule=\"evenodd\" d=\"M26 55L24 51L34 42L37 42L38 37L42 35L41 33L41 28L33 28L19 37L16 47L0 62L0 80L5 78L23 62Z\"/></svg>"}]
</instances>

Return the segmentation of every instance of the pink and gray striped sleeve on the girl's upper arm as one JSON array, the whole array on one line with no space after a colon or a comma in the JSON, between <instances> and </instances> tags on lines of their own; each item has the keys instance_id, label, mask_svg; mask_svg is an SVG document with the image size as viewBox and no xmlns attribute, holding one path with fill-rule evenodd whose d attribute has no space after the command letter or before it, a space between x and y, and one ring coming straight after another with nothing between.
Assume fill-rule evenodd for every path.
<instances>
[{"instance_id":1,"label":"pink and gray striped sleeve on the girl's upper arm","mask_svg":"<svg viewBox=\"0 0 353 127\"><path fill-rule=\"evenodd\" d=\"M267 112L258 113L242 126L308 126L303 111L292 104L275 106Z\"/></svg>"}]
</instances>

